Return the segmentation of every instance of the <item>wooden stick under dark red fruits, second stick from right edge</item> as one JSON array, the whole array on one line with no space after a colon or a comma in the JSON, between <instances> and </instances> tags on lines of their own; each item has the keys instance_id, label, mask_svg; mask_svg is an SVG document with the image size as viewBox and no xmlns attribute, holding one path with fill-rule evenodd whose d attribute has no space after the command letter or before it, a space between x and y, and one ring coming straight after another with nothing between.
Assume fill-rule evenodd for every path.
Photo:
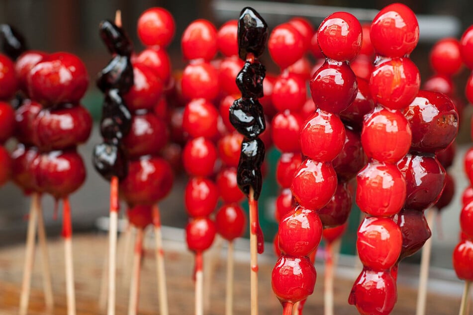
<instances>
[{"instance_id":1,"label":"wooden stick under dark red fruits, second stick from right edge","mask_svg":"<svg viewBox=\"0 0 473 315\"><path fill-rule=\"evenodd\" d=\"M435 209L427 210L427 224L433 231ZM427 239L422 247L422 256L420 260L419 288L417 290L416 315L424 315L427 302L427 281L429 279L430 252L432 250L432 237Z\"/></svg>"}]
</instances>

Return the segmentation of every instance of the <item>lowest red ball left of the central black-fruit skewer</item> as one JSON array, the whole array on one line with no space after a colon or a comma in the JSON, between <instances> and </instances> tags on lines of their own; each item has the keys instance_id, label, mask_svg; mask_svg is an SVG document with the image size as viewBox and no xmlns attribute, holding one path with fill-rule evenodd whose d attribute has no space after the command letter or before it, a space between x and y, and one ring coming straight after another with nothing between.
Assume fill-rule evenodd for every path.
<instances>
[{"instance_id":1,"label":"lowest red ball left of the central black-fruit skewer","mask_svg":"<svg viewBox=\"0 0 473 315\"><path fill-rule=\"evenodd\" d=\"M217 229L209 218L191 219L186 226L186 241L189 250L203 251L212 245Z\"/></svg>"}]
</instances>

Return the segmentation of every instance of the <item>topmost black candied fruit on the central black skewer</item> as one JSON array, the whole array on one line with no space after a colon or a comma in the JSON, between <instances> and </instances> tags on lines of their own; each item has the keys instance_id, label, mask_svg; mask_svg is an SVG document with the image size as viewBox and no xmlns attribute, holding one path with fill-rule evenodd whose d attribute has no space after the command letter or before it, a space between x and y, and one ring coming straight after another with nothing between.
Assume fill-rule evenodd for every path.
<instances>
[{"instance_id":1,"label":"topmost black candied fruit on the central black skewer","mask_svg":"<svg viewBox=\"0 0 473 315\"><path fill-rule=\"evenodd\" d=\"M260 57L268 40L268 24L251 7L245 7L238 19L238 54L245 60L248 53Z\"/></svg>"}]
</instances>

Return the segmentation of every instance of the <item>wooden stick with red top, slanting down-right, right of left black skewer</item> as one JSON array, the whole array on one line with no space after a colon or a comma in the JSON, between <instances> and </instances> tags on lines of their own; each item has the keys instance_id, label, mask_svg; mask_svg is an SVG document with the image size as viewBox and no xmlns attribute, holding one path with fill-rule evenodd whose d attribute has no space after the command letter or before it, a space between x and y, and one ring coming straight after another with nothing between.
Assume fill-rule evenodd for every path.
<instances>
[{"instance_id":1,"label":"wooden stick with red top, slanting down-right, right of left black skewer","mask_svg":"<svg viewBox=\"0 0 473 315\"><path fill-rule=\"evenodd\" d=\"M163 238L161 234L161 216L157 205L153 207L154 239L156 241L156 271L158 276L159 310L161 315L168 315L168 290L164 267Z\"/></svg>"}]
</instances>

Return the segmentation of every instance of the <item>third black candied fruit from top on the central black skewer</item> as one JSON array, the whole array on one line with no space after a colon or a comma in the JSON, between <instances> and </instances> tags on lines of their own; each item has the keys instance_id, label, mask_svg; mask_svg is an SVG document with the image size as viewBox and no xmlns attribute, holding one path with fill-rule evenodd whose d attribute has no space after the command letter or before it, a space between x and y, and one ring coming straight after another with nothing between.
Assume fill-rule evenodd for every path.
<instances>
[{"instance_id":1,"label":"third black candied fruit from top on the central black skewer","mask_svg":"<svg viewBox=\"0 0 473 315\"><path fill-rule=\"evenodd\" d=\"M230 123L246 138L258 137L266 128L263 106L257 99L235 100L230 106Z\"/></svg>"}]
</instances>

